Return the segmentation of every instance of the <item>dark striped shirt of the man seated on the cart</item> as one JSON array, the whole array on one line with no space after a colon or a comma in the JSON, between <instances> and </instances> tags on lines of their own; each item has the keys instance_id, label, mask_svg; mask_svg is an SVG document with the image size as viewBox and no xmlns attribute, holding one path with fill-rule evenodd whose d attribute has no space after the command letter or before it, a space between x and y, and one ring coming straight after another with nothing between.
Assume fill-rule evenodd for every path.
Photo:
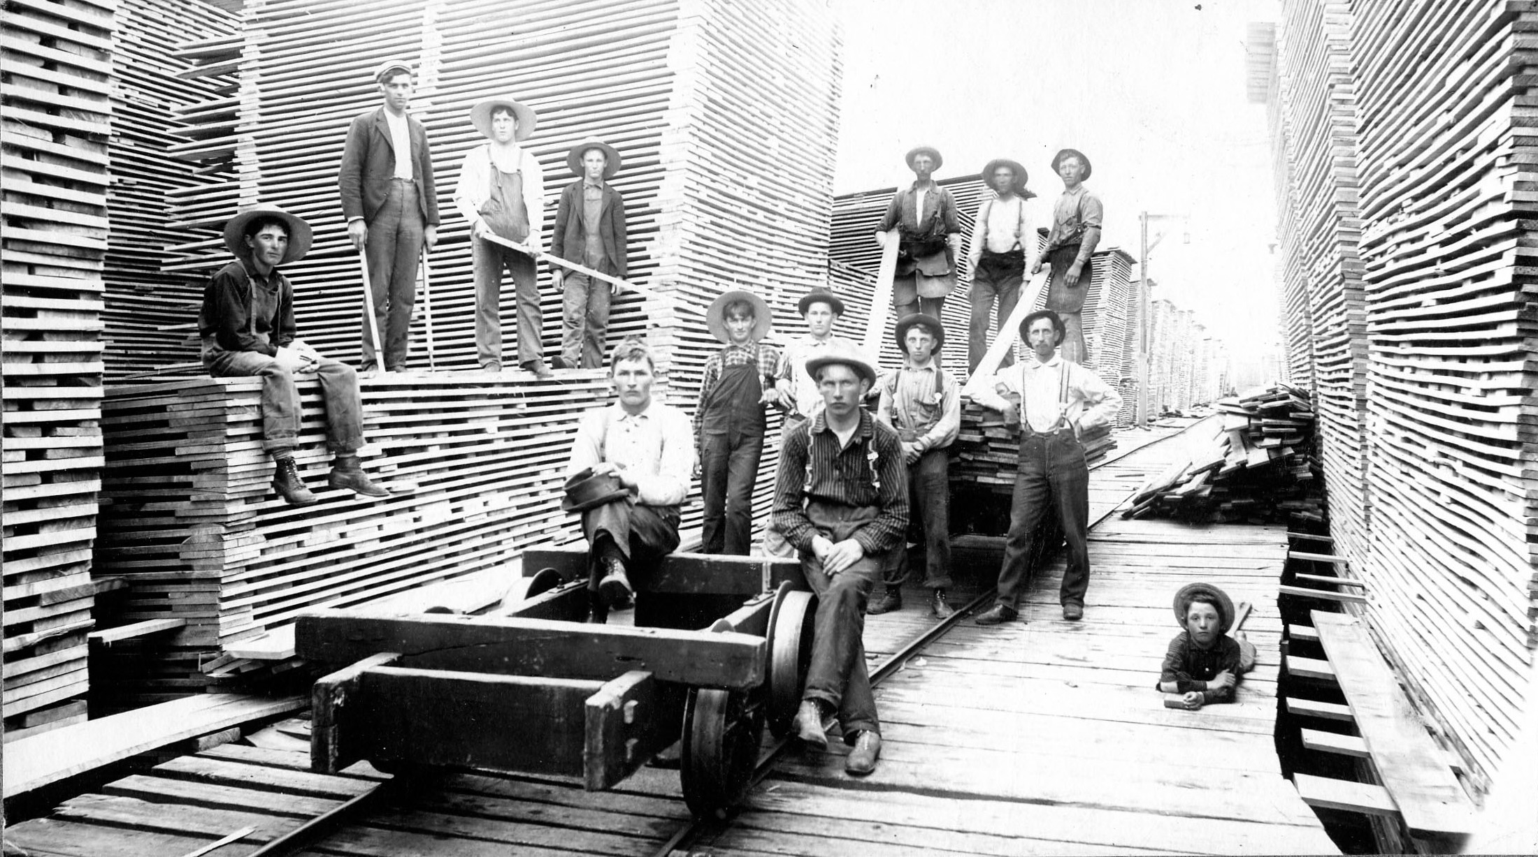
<instances>
[{"instance_id":1,"label":"dark striped shirt of the man seated on the cart","mask_svg":"<svg viewBox=\"0 0 1538 857\"><path fill-rule=\"evenodd\" d=\"M877 507L877 518L852 536L866 556L900 545L907 531L907 467L897 432L863 409L847 447L841 447L823 413L797 425L780 452L774 525L800 550L812 550L817 534L806 516L807 499Z\"/></svg>"}]
</instances>

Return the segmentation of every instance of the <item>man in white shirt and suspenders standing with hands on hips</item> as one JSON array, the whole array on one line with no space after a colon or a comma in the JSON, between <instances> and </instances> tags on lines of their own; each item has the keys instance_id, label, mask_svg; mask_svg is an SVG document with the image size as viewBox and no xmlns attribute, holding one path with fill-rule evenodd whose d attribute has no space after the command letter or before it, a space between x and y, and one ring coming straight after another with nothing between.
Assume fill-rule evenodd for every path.
<instances>
[{"instance_id":1,"label":"man in white shirt and suspenders standing with hands on hips","mask_svg":"<svg viewBox=\"0 0 1538 857\"><path fill-rule=\"evenodd\" d=\"M1084 616L1089 590L1089 467L1078 442L1084 430L1109 425L1121 410L1121 396L1081 364L1064 359L1057 347L1064 336L1063 319L1038 310L1020 324L1020 336L1034 359L1021 361L997 376L1006 393L1020 395L1020 407L992 389L980 389L972 401L1004 415L1006 425L1020 425L1020 462L1015 496L1009 510L1004 564L998 573L998 599L977 617L978 625L1009 622L1020 614L1037 524L1055 510L1067 538L1067 570L1058 601L1063 619Z\"/></svg>"}]
</instances>

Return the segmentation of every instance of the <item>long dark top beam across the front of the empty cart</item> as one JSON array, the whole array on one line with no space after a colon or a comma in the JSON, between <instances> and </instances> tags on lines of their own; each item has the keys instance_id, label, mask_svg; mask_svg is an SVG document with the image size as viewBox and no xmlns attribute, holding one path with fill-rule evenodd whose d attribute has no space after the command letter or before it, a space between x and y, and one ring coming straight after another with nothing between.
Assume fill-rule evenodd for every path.
<instances>
[{"instance_id":1,"label":"long dark top beam across the front of the empty cart","mask_svg":"<svg viewBox=\"0 0 1538 857\"><path fill-rule=\"evenodd\" d=\"M749 690L763 683L766 644L763 637L737 633L321 610L295 622L295 651L328 663L398 651L401 665L411 668L603 682L646 670L664 682Z\"/></svg>"}]
</instances>

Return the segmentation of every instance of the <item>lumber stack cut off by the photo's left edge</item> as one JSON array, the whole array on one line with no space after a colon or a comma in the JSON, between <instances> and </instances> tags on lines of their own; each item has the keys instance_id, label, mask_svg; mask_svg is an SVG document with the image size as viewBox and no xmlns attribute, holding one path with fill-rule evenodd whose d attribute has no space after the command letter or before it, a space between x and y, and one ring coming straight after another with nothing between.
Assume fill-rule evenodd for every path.
<instances>
[{"instance_id":1,"label":"lumber stack cut off by the photo's left edge","mask_svg":"<svg viewBox=\"0 0 1538 857\"><path fill-rule=\"evenodd\" d=\"M6 739L85 717L112 3L0 12Z\"/></svg>"}]
</instances>

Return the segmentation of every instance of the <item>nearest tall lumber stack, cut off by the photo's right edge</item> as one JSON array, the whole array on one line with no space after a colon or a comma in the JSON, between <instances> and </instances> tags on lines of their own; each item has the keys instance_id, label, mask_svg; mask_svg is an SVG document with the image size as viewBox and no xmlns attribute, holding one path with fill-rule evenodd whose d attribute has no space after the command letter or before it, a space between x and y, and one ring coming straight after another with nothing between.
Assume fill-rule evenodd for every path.
<instances>
[{"instance_id":1,"label":"nearest tall lumber stack, cut off by the photo's right edge","mask_svg":"<svg viewBox=\"0 0 1538 857\"><path fill-rule=\"evenodd\" d=\"M1480 782L1538 690L1538 54L1509 3L1353 12L1373 433L1370 544L1350 559L1372 628Z\"/></svg>"}]
</instances>

